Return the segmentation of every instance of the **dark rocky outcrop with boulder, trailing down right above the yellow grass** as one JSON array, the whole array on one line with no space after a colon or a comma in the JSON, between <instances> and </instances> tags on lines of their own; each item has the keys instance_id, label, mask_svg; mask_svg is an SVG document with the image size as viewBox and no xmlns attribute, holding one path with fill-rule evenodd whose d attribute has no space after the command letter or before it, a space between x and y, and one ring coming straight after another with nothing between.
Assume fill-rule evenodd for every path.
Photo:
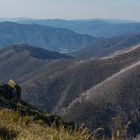
<instances>
[{"instance_id":1,"label":"dark rocky outcrop with boulder, trailing down right above the yellow grass","mask_svg":"<svg viewBox=\"0 0 140 140\"><path fill-rule=\"evenodd\" d=\"M49 115L41 112L24 102L21 99L21 88L13 80L9 80L7 83L0 85L0 108L16 111L20 116L31 117L32 121L49 127L59 128L63 126L65 129L72 130L77 128L73 122L67 123L58 115Z\"/></svg>"}]
</instances>

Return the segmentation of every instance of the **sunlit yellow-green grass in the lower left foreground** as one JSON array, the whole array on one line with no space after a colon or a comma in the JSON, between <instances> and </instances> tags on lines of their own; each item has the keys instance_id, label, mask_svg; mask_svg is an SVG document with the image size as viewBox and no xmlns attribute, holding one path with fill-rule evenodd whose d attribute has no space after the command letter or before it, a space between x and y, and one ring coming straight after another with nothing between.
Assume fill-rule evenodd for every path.
<instances>
[{"instance_id":1,"label":"sunlit yellow-green grass in the lower left foreground","mask_svg":"<svg viewBox=\"0 0 140 140\"><path fill-rule=\"evenodd\" d=\"M0 109L0 139L2 140L88 140L87 130L66 130L35 123L29 116Z\"/></svg>"}]
</instances>

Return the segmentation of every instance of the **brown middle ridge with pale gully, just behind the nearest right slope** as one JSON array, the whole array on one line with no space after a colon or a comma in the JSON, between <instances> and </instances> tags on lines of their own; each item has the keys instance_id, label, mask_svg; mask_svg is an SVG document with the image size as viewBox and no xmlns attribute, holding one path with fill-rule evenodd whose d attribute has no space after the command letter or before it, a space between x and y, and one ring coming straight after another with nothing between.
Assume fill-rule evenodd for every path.
<instances>
[{"instance_id":1,"label":"brown middle ridge with pale gully, just behind the nearest right slope","mask_svg":"<svg viewBox=\"0 0 140 140\"><path fill-rule=\"evenodd\" d=\"M114 57L75 61L67 69L44 72L22 84L22 97L40 109L59 112L87 89L137 62L139 54L140 46L136 46L132 51Z\"/></svg>"}]
</instances>

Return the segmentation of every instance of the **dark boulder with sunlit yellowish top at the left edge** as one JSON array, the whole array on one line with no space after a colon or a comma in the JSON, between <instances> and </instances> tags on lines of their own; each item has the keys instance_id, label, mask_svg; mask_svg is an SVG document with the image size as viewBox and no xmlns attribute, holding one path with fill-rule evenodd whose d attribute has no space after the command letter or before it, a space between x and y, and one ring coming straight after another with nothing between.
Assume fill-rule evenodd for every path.
<instances>
[{"instance_id":1,"label":"dark boulder with sunlit yellowish top at the left edge","mask_svg":"<svg viewBox=\"0 0 140 140\"><path fill-rule=\"evenodd\" d=\"M21 99L21 88L13 80L0 85L0 95L9 100Z\"/></svg>"}]
</instances>

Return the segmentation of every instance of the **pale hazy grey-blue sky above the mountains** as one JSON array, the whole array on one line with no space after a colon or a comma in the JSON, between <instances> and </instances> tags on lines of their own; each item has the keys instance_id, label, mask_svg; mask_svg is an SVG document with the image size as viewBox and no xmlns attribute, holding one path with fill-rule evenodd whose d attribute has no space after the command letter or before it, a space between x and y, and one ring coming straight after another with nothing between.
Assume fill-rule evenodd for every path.
<instances>
[{"instance_id":1,"label":"pale hazy grey-blue sky above the mountains","mask_svg":"<svg viewBox=\"0 0 140 140\"><path fill-rule=\"evenodd\" d=\"M0 0L0 17L140 20L140 0Z\"/></svg>"}]
</instances>

